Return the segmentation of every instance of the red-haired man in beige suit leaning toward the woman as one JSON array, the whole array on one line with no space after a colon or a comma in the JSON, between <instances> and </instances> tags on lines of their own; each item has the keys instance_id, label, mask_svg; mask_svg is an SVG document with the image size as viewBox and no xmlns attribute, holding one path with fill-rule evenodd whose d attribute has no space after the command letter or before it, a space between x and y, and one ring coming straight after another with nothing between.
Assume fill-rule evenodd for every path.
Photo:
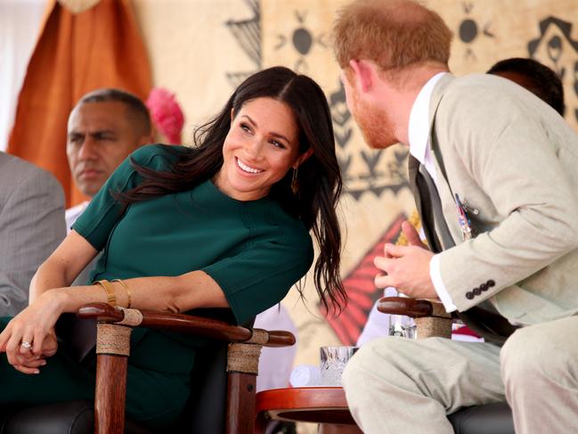
<instances>
[{"instance_id":1,"label":"red-haired man in beige suit leaning toward the woman","mask_svg":"<svg viewBox=\"0 0 578 434\"><path fill-rule=\"evenodd\" d=\"M454 78L452 31L411 0L357 0L334 26L347 105L369 146L409 146L428 250L375 259L379 288L440 299L484 342L385 337L346 365L363 432L451 434L447 414L508 401L518 434L578 420L578 135L511 81Z\"/></svg>"}]
</instances>

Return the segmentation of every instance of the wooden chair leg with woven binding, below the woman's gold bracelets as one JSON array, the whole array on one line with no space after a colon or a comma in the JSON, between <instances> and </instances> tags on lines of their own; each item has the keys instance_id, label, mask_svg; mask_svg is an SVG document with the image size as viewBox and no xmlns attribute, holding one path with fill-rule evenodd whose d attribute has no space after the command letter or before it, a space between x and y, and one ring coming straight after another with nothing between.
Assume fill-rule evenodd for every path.
<instances>
[{"instance_id":1,"label":"wooden chair leg with woven binding, below the woman's gold bracelets","mask_svg":"<svg viewBox=\"0 0 578 434\"><path fill-rule=\"evenodd\" d=\"M96 338L94 434L125 432L126 371L132 329L99 323Z\"/></svg>"}]
</instances>

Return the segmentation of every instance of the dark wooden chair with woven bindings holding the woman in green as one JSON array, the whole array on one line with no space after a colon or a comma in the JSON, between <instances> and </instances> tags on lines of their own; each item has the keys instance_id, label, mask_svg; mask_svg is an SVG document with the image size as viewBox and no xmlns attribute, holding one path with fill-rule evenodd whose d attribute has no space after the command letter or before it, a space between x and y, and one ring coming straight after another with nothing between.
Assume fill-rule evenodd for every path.
<instances>
[{"instance_id":1,"label":"dark wooden chair with woven bindings holding the woman in green","mask_svg":"<svg viewBox=\"0 0 578 434\"><path fill-rule=\"evenodd\" d=\"M125 421L126 370L130 352L130 334L133 327L147 327L169 332L182 332L209 338L225 345L216 346L215 355L223 361L220 365L213 354L206 364L215 367L218 373L205 373L205 389L217 389L217 395L226 397L224 411L220 405L211 406L197 412L200 418L223 413L224 421L215 422L211 427L202 426L202 422L190 420L195 415L185 414L174 432L218 434L253 434L255 424L255 395L258 359L262 347L285 347L295 343L290 332L267 332L250 329L192 315L167 314L110 307L104 303L86 305L78 311L81 318L95 318L97 322L97 368L96 390L94 396L94 430L92 428L92 403L75 401L57 405L38 405L15 412L0 412L0 431L3 434L45 434L69 432L88 434L151 433L133 422ZM219 349L221 348L221 349ZM202 374L202 373L201 373ZM212 376L220 375L212 381ZM213 384L214 382L219 384ZM195 384L195 395L200 390ZM205 400L206 397L199 399ZM189 413L188 411L185 413ZM4 418L4 422L3 422ZM79 419L82 423L78 423ZM90 426L87 430L86 426ZM63 428L66 427L66 430ZM215 428L217 427L217 428Z\"/></svg>"}]
</instances>

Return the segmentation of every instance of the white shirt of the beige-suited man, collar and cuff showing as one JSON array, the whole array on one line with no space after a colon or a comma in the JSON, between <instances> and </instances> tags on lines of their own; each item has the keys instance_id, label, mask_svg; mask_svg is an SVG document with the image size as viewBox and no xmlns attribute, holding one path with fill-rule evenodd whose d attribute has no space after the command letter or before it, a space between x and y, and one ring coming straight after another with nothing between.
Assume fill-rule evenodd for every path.
<instances>
[{"instance_id":1,"label":"white shirt of the beige-suited man, collar and cuff showing","mask_svg":"<svg viewBox=\"0 0 578 434\"><path fill-rule=\"evenodd\" d=\"M409 123L410 153L416 160L426 167L427 173L434 180L436 187L436 168L431 153L431 143L429 143L429 102L431 102L431 95L436 83L440 78L444 77L445 74L447 74L447 72L436 74L421 88L418 97L415 99L415 102L413 102L413 106L411 107ZM454 310L457 310L457 307L453 304L449 292L445 289L439 261L439 255L434 255L431 258L431 261L429 262L429 276L431 277L432 283L434 283L437 297L439 297L444 304L445 310L453 312Z\"/></svg>"}]
</instances>

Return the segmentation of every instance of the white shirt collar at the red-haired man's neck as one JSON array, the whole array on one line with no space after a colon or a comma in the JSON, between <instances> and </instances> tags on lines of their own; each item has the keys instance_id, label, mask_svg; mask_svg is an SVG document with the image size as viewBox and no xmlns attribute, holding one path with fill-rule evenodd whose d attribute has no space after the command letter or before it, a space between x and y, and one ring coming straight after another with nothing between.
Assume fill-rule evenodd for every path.
<instances>
[{"instance_id":1,"label":"white shirt collar at the red-haired man's neck","mask_svg":"<svg viewBox=\"0 0 578 434\"><path fill-rule=\"evenodd\" d=\"M434 92L434 87L440 78L447 72L438 72L429 78L425 86L419 91L418 97L413 102L410 112L409 141L410 153L421 164L426 163L429 142L429 102Z\"/></svg>"}]
</instances>

